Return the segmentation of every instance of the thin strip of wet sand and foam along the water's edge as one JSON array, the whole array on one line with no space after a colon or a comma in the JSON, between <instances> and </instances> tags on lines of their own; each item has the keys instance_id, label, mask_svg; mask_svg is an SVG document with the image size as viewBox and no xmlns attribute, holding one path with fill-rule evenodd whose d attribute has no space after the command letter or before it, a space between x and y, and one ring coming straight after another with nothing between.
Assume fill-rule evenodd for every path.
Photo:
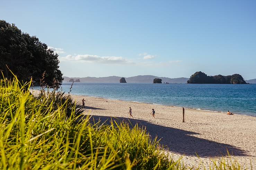
<instances>
[{"instance_id":1,"label":"thin strip of wet sand and foam along the water's edge","mask_svg":"<svg viewBox=\"0 0 256 170\"><path fill-rule=\"evenodd\" d=\"M68 93L65 93L68 94ZM159 106L167 106L167 107L176 107L176 108L183 108L182 106L174 106L174 105L166 105L166 104L157 104L157 103L147 103L147 102L140 102L140 101L132 101L132 100L123 100L123 99L111 99L111 98L104 98L104 97L97 97L97 96L88 96L88 95L81 95L81 94L70 94L70 95L75 95L75 96L85 96L85 97L93 97L93 98L98 98L98 99L104 99L104 100L117 100L117 101L127 101L127 102L134 102L134 103L143 103L143 104L154 104L154 105L159 105ZM208 112L217 112L217 113L226 113L223 111L216 111L216 110L207 110L203 108L189 108L189 107L184 107L184 109L194 109L194 110L201 110L201 111L208 111ZM245 113L237 113L237 112L232 112L234 114L242 115L242 116L251 116L251 117L256 117L254 115L248 115Z\"/></svg>"}]
</instances>

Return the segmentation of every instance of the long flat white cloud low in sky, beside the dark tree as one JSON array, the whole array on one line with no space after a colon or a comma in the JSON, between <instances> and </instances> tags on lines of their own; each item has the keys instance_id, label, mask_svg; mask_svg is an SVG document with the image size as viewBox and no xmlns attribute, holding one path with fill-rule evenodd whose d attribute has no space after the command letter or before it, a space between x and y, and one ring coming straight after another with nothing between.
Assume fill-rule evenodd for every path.
<instances>
[{"instance_id":1,"label":"long flat white cloud low in sky, beside the dark tree","mask_svg":"<svg viewBox=\"0 0 256 170\"><path fill-rule=\"evenodd\" d=\"M131 60L124 57L100 57L97 55L68 55L66 57L60 57L61 61L77 61L77 62L89 62L89 63L104 63L104 64L133 64Z\"/></svg>"}]
</instances>

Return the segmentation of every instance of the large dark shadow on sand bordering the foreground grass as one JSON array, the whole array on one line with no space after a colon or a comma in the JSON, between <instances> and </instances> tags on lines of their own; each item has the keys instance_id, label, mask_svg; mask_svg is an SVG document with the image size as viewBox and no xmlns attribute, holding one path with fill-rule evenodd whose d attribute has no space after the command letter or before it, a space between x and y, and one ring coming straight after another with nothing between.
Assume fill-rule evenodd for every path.
<instances>
[{"instance_id":1,"label":"large dark shadow on sand bordering the foreground grass","mask_svg":"<svg viewBox=\"0 0 256 170\"><path fill-rule=\"evenodd\" d=\"M180 130L176 128L164 127L157 124L152 124L144 120L128 119L122 117L107 117L107 116L92 116L90 119L91 123L105 122L110 123L110 121L115 120L117 122L129 122L134 126L138 123L138 126L143 128L146 127L147 132L152 138L156 136L160 140L161 144L164 144L165 148L174 153L183 154L186 156L196 156L199 157L221 157L227 156L227 150L230 155L233 156L248 156L244 150L234 147L230 144L218 143L207 139L201 139L194 136L193 134L198 134L195 132Z\"/></svg>"}]
</instances>

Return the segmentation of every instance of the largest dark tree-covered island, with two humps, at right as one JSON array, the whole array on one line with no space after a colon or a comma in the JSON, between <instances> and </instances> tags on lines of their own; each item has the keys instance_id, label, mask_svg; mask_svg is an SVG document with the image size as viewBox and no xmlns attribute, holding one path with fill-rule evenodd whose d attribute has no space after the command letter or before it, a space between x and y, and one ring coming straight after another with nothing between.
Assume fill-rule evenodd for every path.
<instances>
[{"instance_id":1,"label":"largest dark tree-covered island, with two humps, at right","mask_svg":"<svg viewBox=\"0 0 256 170\"><path fill-rule=\"evenodd\" d=\"M195 72L187 81L192 84L247 84L240 74L232 76L207 76L207 74L198 71Z\"/></svg>"}]
</instances>

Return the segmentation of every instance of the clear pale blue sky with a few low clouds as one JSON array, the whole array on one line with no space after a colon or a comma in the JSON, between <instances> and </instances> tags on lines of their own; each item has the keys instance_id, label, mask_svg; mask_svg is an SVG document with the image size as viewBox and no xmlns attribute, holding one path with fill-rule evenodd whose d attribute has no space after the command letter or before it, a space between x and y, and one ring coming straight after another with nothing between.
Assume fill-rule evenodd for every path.
<instances>
[{"instance_id":1,"label":"clear pale blue sky with a few low clouds","mask_svg":"<svg viewBox=\"0 0 256 170\"><path fill-rule=\"evenodd\" d=\"M0 19L59 54L68 77L256 78L256 1L6 1Z\"/></svg>"}]
</instances>

